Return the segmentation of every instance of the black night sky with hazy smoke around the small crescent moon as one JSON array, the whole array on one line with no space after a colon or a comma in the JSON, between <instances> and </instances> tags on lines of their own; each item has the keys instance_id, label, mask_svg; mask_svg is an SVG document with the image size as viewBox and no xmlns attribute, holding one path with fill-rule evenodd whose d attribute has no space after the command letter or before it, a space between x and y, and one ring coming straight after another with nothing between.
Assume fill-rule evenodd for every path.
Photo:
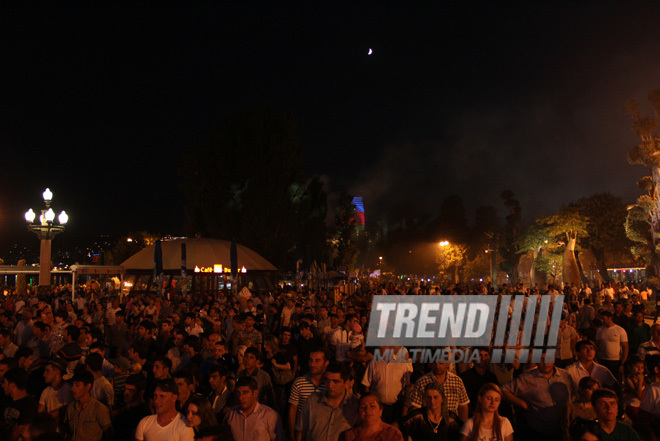
<instances>
[{"instance_id":1,"label":"black night sky with hazy smoke around the small crescent moon","mask_svg":"<svg viewBox=\"0 0 660 441\"><path fill-rule=\"evenodd\" d=\"M0 6L1 241L46 186L67 235L181 234L183 152L263 102L371 220L639 193L622 110L660 87L658 2L217 3Z\"/></svg>"}]
</instances>

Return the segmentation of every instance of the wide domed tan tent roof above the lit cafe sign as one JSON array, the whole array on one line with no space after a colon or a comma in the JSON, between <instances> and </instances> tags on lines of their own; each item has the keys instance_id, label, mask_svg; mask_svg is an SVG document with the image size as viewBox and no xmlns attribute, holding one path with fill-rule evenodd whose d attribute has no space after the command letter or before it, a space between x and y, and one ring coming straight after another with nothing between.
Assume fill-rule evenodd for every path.
<instances>
[{"instance_id":1,"label":"wide domed tan tent roof above the lit cafe sign","mask_svg":"<svg viewBox=\"0 0 660 441\"><path fill-rule=\"evenodd\" d=\"M192 272L195 266L212 267L222 265L230 267L229 251L231 242L218 239L175 239L161 242L163 252L163 270L181 269L181 244L186 244L186 268ZM154 248L149 245L125 260L121 265L127 270L152 270L154 268ZM277 271L270 262L251 249L236 244L238 267L248 271Z\"/></svg>"}]
</instances>

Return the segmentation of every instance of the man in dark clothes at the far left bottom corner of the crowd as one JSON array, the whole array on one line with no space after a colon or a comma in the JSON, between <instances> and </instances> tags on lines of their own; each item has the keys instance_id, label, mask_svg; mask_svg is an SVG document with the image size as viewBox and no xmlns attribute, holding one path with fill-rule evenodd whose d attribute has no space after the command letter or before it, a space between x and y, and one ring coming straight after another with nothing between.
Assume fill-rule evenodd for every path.
<instances>
[{"instance_id":1,"label":"man in dark clothes at the far left bottom corner of the crowd","mask_svg":"<svg viewBox=\"0 0 660 441\"><path fill-rule=\"evenodd\" d=\"M18 440L27 425L37 414L37 401L27 393L28 373L14 368L4 374L2 389L11 402L2 414L2 430L10 441Z\"/></svg>"}]
</instances>

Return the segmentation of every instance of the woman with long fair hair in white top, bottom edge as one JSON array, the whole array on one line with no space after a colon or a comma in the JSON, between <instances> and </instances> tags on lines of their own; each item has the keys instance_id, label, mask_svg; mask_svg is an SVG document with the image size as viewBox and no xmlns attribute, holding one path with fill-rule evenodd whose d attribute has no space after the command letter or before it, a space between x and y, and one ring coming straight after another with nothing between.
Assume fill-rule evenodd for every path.
<instances>
[{"instance_id":1,"label":"woman with long fair hair in white top, bottom edge","mask_svg":"<svg viewBox=\"0 0 660 441\"><path fill-rule=\"evenodd\" d=\"M474 416L461 429L461 441L512 441L513 427L497 409L502 401L502 391L494 383L479 389Z\"/></svg>"}]
</instances>

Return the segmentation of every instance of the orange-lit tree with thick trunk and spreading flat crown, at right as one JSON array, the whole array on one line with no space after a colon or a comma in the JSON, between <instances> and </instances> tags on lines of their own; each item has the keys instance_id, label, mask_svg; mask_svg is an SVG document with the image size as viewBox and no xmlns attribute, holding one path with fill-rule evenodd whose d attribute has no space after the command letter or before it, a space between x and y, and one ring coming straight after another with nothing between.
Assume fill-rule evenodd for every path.
<instances>
[{"instance_id":1,"label":"orange-lit tree with thick trunk and spreading flat crown, at right","mask_svg":"<svg viewBox=\"0 0 660 441\"><path fill-rule=\"evenodd\" d=\"M575 257L578 236L587 236L587 218L576 207L565 207L552 216L538 220L548 230L551 238L564 247L562 275L564 283L581 285L580 268ZM549 239L550 242L552 239Z\"/></svg>"}]
</instances>

